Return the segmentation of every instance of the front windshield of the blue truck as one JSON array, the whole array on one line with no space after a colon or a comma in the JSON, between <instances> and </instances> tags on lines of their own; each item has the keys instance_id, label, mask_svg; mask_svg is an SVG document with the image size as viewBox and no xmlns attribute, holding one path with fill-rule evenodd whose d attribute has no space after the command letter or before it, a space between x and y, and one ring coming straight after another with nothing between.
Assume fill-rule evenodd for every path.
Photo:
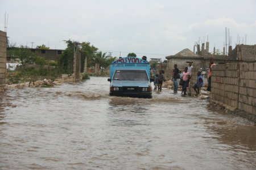
<instances>
[{"instance_id":1,"label":"front windshield of the blue truck","mask_svg":"<svg viewBox=\"0 0 256 170\"><path fill-rule=\"evenodd\" d=\"M142 80L148 81L145 70L117 70L113 80Z\"/></svg>"}]
</instances>

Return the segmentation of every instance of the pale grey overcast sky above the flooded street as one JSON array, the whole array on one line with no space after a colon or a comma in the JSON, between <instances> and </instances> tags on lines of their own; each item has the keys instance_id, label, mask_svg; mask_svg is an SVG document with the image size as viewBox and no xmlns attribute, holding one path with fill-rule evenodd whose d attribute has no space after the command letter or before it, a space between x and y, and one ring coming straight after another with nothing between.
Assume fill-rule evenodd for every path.
<instances>
[{"instance_id":1,"label":"pale grey overcast sky above the flooded street","mask_svg":"<svg viewBox=\"0 0 256 170\"><path fill-rule=\"evenodd\" d=\"M7 36L16 45L45 44L65 49L62 40L89 41L113 56L162 58L209 37L210 52L221 49L225 27L232 45L256 44L255 0L91 0L36 1L0 0L0 30L4 31L5 12L9 14Z\"/></svg>"}]
</instances>

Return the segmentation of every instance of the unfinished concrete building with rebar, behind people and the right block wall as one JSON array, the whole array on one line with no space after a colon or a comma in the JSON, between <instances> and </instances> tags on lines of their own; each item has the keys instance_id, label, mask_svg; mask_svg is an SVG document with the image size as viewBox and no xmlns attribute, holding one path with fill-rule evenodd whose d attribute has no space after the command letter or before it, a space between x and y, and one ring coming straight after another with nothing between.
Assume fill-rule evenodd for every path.
<instances>
[{"instance_id":1,"label":"unfinished concrete building with rebar, behind people and the right block wall","mask_svg":"<svg viewBox=\"0 0 256 170\"><path fill-rule=\"evenodd\" d=\"M195 52L195 48L197 52ZM188 66L188 62L193 62L194 67L208 68L210 58L213 58L214 62L218 65L224 63L256 62L256 45L242 44L237 45L234 49L232 49L232 46L229 46L228 55L216 55L214 52L213 54L209 53L209 42L207 42L206 49L204 49L204 43L201 49L199 45L195 45L194 52L189 49L184 49L175 55L167 56L167 72L171 72L175 64L177 64L180 70L184 70L184 68Z\"/></svg>"}]
</instances>

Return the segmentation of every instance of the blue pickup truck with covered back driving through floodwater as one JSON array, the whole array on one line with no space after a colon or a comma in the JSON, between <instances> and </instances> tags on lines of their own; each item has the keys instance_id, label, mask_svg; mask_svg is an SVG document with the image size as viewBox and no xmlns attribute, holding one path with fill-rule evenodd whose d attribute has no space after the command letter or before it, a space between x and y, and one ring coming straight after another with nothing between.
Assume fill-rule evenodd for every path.
<instances>
[{"instance_id":1,"label":"blue pickup truck with covered back driving through floodwater","mask_svg":"<svg viewBox=\"0 0 256 170\"><path fill-rule=\"evenodd\" d=\"M110 92L116 96L152 98L150 65L137 57L123 57L110 65Z\"/></svg>"}]
</instances>

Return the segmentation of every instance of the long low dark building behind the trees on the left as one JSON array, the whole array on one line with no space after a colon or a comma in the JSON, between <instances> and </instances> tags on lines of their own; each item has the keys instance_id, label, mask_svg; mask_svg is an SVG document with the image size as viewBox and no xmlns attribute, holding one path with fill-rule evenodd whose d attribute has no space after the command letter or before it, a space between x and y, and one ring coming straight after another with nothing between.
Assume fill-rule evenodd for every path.
<instances>
[{"instance_id":1,"label":"long low dark building behind the trees on the left","mask_svg":"<svg viewBox=\"0 0 256 170\"><path fill-rule=\"evenodd\" d=\"M7 48L7 54L11 50L14 50L15 48ZM56 61L59 59L60 55L63 53L64 50L61 49L36 49L31 48L31 52L35 53L36 56L43 57L44 59L47 59L49 61ZM12 62L10 57L7 58L8 62Z\"/></svg>"}]
</instances>

